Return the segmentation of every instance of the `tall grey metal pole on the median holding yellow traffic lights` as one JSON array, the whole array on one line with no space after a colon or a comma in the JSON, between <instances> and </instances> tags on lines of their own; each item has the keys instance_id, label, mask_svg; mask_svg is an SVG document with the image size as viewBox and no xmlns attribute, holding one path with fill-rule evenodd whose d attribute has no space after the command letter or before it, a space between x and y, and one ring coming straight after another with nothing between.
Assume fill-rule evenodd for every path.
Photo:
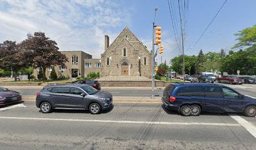
<instances>
[{"instance_id":1,"label":"tall grey metal pole on the median holding yellow traffic lights","mask_svg":"<svg viewBox=\"0 0 256 150\"><path fill-rule=\"evenodd\" d=\"M152 31L152 92L151 92L151 99L154 99L154 87L155 87L155 83L154 83L154 28L156 27L155 21L156 21L156 11L157 8L154 9L155 10L155 16L154 16L154 22L153 22L153 31Z\"/></svg>"}]
</instances>

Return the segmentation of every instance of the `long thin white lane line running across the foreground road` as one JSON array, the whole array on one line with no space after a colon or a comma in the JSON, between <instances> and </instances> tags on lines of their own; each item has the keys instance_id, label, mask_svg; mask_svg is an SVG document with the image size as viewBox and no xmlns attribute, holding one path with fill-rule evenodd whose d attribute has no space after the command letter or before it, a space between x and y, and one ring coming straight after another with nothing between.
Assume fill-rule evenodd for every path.
<instances>
[{"instance_id":1,"label":"long thin white lane line running across the foreground road","mask_svg":"<svg viewBox=\"0 0 256 150\"><path fill-rule=\"evenodd\" d=\"M226 124L226 123L170 123L170 122L160 122L160 121L156 121L156 122L152 122L152 121L112 121L112 120L59 119L59 118L0 117L0 119L42 120L42 121L79 121L79 122L96 122L96 123L164 124L164 125L241 126L240 124Z\"/></svg>"}]
</instances>

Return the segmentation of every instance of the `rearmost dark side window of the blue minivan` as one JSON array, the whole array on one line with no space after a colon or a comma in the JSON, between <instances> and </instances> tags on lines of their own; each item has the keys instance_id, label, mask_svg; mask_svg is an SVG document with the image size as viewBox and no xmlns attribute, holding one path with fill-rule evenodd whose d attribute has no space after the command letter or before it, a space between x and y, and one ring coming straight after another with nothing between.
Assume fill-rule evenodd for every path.
<instances>
[{"instance_id":1,"label":"rearmost dark side window of the blue minivan","mask_svg":"<svg viewBox=\"0 0 256 150\"><path fill-rule=\"evenodd\" d=\"M177 96L204 96L201 86L181 87L176 92Z\"/></svg>"}]
</instances>

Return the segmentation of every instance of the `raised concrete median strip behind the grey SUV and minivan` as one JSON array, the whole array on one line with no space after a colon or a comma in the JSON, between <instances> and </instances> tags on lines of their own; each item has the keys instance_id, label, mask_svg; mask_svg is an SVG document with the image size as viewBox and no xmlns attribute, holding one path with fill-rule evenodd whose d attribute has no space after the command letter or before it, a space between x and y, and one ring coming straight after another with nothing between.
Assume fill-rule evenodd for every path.
<instances>
[{"instance_id":1,"label":"raised concrete median strip behind the grey SUV and minivan","mask_svg":"<svg viewBox=\"0 0 256 150\"><path fill-rule=\"evenodd\" d=\"M23 101L36 101L36 96L24 95ZM160 96L150 97L135 97L135 96L113 96L114 103L162 103Z\"/></svg>"}]
</instances>

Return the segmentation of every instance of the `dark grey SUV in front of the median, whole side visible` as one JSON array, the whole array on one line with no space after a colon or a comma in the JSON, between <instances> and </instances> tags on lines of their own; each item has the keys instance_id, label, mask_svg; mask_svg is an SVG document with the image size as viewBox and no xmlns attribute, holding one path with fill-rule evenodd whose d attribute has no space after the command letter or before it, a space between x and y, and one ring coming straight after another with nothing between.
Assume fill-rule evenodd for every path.
<instances>
[{"instance_id":1,"label":"dark grey SUV in front of the median, whole side visible","mask_svg":"<svg viewBox=\"0 0 256 150\"><path fill-rule=\"evenodd\" d=\"M107 91L98 91L87 84L45 86L36 94L36 107L42 113L54 108L80 108L99 114L112 106L113 97Z\"/></svg>"}]
</instances>

